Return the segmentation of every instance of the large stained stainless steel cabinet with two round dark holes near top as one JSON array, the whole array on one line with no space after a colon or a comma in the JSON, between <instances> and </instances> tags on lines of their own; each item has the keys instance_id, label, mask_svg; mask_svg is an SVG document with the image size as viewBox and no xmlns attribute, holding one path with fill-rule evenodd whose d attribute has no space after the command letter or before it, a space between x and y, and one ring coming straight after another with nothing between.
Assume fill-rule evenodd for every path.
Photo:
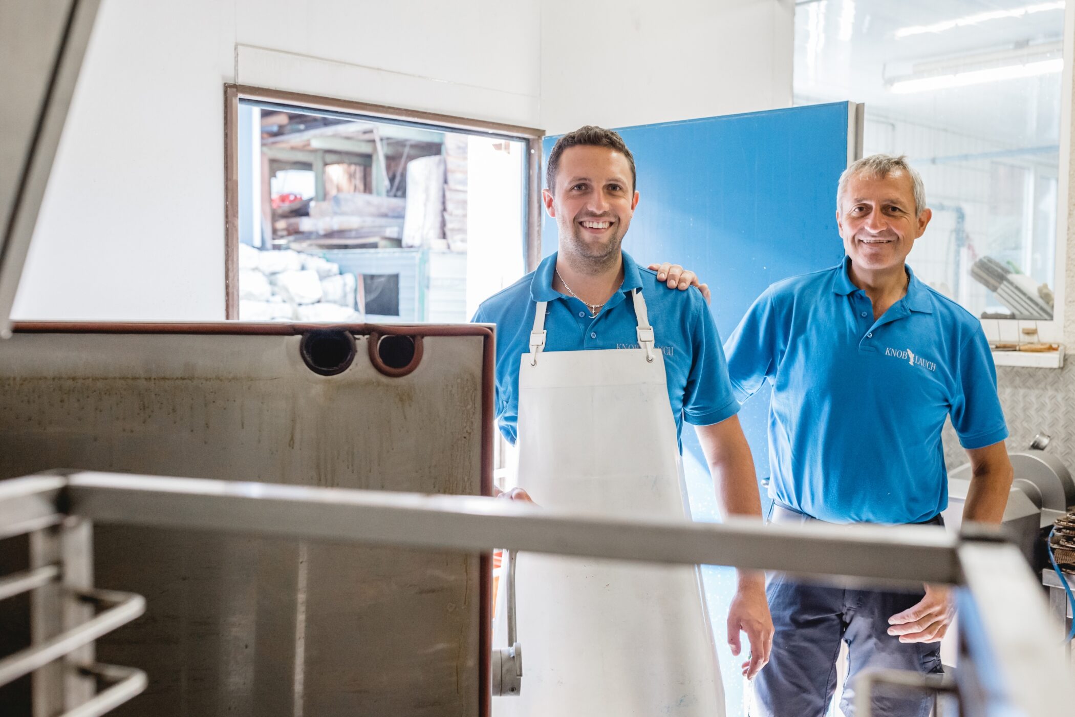
<instances>
[{"instance_id":1,"label":"large stained stainless steel cabinet with two round dark holes near top","mask_svg":"<svg viewBox=\"0 0 1075 717\"><path fill-rule=\"evenodd\" d=\"M18 325L0 342L0 477L488 494L492 362L476 326ZM118 715L487 714L487 556L108 526L95 541L97 583L147 600L98 643L149 675Z\"/></svg>"}]
</instances>

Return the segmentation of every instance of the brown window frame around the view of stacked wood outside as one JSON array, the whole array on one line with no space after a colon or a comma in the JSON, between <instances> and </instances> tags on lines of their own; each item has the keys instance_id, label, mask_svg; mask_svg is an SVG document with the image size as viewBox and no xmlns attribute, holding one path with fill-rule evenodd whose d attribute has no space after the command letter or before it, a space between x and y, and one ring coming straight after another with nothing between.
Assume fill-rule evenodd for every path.
<instances>
[{"instance_id":1,"label":"brown window frame around the view of stacked wood outside","mask_svg":"<svg viewBox=\"0 0 1075 717\"><path fill-rule=\"evenodd\" d=\"M312 111L327 110L362 115L373 119L434 125L447 130L481 132L485 135L524 141L527 156L526 187L526 271L533 271L541 261L541 164L542 140L545 131L470 117L442 115L419 110L358 102L340 98L306 95L269 87L227 83L224 85L224 284L226 319L239 318L239 102L254 100L293 105Z\"/></svg>"}]
</instances>

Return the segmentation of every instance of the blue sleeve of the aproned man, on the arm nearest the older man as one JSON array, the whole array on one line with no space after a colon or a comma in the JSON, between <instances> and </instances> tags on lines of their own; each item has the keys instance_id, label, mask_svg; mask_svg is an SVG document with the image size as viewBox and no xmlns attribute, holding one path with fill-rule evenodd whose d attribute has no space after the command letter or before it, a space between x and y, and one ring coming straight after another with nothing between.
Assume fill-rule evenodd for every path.
<instances>
[{"instance_id":1,"label":"blue sleeve of the aproned man, on the arm nearest the older man","mask_svg":"<svg viewBox=\"0 0 1075 717\"><path fill-rule=\"evenodd\" d=\"M728 382L728 364L710 307L699 295L691 321L693 360L683 396L683 417L692 426L719 424L739 412Z\"/></svg>"}]
</instances>

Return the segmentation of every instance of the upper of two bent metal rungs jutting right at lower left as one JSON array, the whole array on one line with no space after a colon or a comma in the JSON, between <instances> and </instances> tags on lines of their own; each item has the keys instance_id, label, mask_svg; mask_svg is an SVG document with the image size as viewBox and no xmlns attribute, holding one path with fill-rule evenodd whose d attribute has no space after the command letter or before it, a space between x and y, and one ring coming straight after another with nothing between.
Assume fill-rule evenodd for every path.
<instances>
[{"instance_id":1,"label":"upper of two bent metal rungs jutting right at lower left","mask_svg":"<svg viewBox=\"0 0 1075 717\"><path fill-rule=\"evenodd\" d=\"M68 653L88 645L145 612L145 598L133 592L89 590L82 593L81 597L112 606L72 630L0 660L0 686L28 675L53 660L58 660Z\"/></svg>"}]
</instances>

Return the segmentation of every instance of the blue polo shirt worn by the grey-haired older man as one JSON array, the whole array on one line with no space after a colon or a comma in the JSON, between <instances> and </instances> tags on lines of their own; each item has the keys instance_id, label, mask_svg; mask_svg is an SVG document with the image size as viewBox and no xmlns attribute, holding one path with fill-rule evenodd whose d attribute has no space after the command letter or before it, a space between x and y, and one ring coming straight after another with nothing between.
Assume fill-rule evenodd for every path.
<instances>
[{"instance_id":1,"label":"blue polo shirt worn by the grey-haired older man","mask_svg":"<svg viewBox=\"0 0 1075 717\"><path fill-rule=\"evenodd\" d=\"M769 494L830 522L919 522L948 504L941 431L1007 438L981 325L907 269L876 321L850 260L770 286L728 338L740 401L773 386Z\"/></svg>"}]
</instances>

